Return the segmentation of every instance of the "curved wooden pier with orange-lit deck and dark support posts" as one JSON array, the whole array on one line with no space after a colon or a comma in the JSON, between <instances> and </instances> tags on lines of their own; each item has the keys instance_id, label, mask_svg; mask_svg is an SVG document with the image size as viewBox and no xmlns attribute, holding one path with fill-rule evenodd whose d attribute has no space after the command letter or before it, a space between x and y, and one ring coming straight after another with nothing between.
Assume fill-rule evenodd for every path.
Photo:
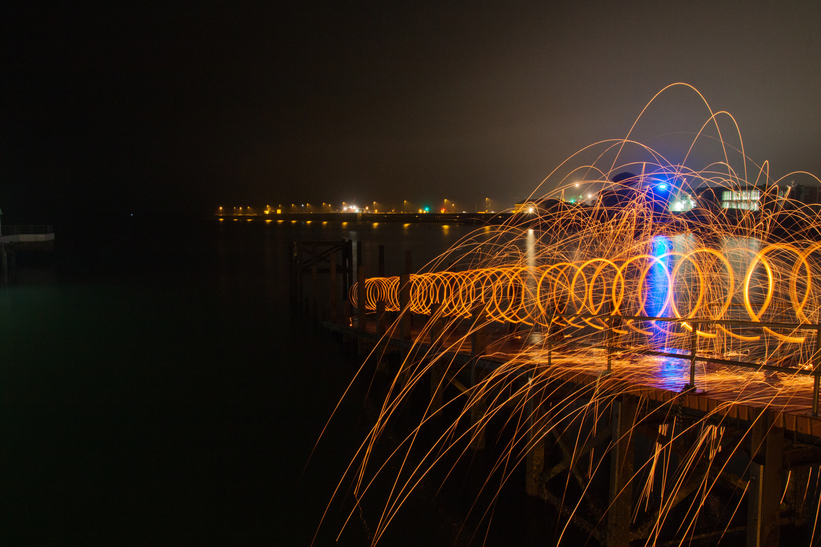
<instances>
[{"instance_id":1,"label":"curved wooden pier with orange-lit deck and dark support posts","mask_svg":"<svg viewBox=\"0 0 821 547\"><path fill-rule=\"evenodd\" d=\"M319 251L323 245L328 253ZM311 312L329 330L357 340L363 357L401 353L398 375L410 374L413 363L435 356L427 373L432 413L442 408L446 389L475 390L486 375L512 359L522 360L534 347L541 349L522 366L525 381L539 377L546 386L527 403L530 429L522 487L527 495L552 504L562 518L600 545L715 545L723 538L728 545L758 547L780 545L784 527L791 536L801 537L815 530L821 495L818 356L815 368L806 372L810 376L803 376L806 381L799 378L787 390L774 373L782 367L740 367L739 375L757 375L750 376L757 380L732 385L726 380L732 362L699 353L697 340L689 354L631 353L609 339L572 344L562 340L561 333L505 324L469 334L467 323L472 321L446 326L436 317L435 306L430 316L409 312L410 253L400 277L399 312L385 312L384 303L378 303L376 311L356 309L347 302L354 271L351 243L333 245L294 245L301 249L294 253L292 286L297 302L310 303ZM334 253L336 258L330 258ZM314 257L313 262L304 256ZM319 260L332 266L320 269ZM359 286L364 286L361 255L355 267ZM323 303L320 271L328 272L323 285L329 296ZM378 274L384 275L382 264ZM310 291L302 280L306 275ZM690 381L685 384L681 378L688 371ZM592 417L568 411L568 400L578 407L594 399L608 400L607 408L599 408ZM484 449L487 442L483 410L481 404L471 407L471 449ZM540 434L545 431L549 433ZM709 442L704 441L705 431L713 432ZM659 446L678 462L689 461L690 471L687 476L666 477L680 481L671 497L643 498L636 477L658 458ZM590 471L602 458L609 458L609 464ZM577 499L566 498L570 491L578 493ZM712 517L710 526L676 524L672 536L662 530L660 514L681 513L695 522L688 507L693 499L708 495L721 500L728 513Z\"/></svg>"}]
</instances>

